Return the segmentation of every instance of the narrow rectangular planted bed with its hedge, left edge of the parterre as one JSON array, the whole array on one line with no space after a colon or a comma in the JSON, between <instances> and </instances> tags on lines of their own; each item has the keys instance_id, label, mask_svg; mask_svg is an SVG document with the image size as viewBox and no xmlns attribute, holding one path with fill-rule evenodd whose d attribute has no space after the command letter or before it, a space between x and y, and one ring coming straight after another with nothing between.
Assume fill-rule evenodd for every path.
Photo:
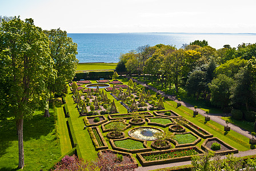
<instances>
[{"instance_id":1,"label":"narrow rectangular planted bed with its hedge, left edge of the parterre","mask_svg":"<svg viewBox=\"0 0 256 171\"><path fill-rule=\"evenodd\" d=\"M93 140L93 144L96 150L109 148L98 127L88 128L88 132L91 136L91 140Z\"/></svg>"}]
</instances>

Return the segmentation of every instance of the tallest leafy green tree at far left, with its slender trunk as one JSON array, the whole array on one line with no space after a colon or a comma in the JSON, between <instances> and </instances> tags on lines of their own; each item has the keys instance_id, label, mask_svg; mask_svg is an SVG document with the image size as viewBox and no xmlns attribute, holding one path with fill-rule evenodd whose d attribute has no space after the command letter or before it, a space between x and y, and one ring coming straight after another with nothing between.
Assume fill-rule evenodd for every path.
<instances>
[{"instance_id":1,"label":"tallest leafy green tree at far left, with its slender trunk","mask_svg":"<svg viewBox=\"0 0 256 171\"><path fill-rule=\"evenodd\" d=\"M0 60L3 64L0 78L10 82L7 98L9 111L17 124L19 165L24 166L23 120L33 116L35 109L45 105L47 96L46 78L53 74L49 40L33 19L25 22L14 18L2 21L0 27L2 48Z\"/></svg>"}]
</instances>

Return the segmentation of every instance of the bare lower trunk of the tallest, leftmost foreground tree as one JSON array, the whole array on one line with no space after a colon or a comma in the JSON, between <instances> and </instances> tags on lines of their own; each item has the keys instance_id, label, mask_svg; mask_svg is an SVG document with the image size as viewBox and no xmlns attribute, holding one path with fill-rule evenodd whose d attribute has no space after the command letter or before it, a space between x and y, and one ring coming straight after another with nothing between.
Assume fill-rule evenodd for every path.
<instances>
[{"instance_id":1,"label":"bare lower trunk of the tallest, leftmost foreground tree","mask_svg":"<svg viewBox=\"0 0 256 171\"><path fill-rule=\"evenodd\" d=\"M19 144L19 169L24 167L24 148L23 148L23 119L18 119L18 144Z\"/></svg>"}]
</instances>

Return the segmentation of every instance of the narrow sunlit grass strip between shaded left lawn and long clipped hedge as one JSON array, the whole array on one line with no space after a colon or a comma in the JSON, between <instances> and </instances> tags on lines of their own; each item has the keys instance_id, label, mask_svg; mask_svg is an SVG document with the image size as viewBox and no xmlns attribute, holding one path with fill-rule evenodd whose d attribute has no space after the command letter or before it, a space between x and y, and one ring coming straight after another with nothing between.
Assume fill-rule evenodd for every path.
<instances>
[{"instance_id":1,"label":"narrow sunlit grass strip between shaded left lawn and long clipped hedge","mask_svg":"<svg viewBox=\"0 0 256 171\"><path fill-rule=\"evenodd\" d=\"M67 129L65 114L63 111L63 105L61 107L57 108L57 114L58 114L58 135L59 140L61 141L61 155L63 156L67 152L69 152L72 149L70 137L69 137L69 131Z\"/></svg>"}]
</instances>

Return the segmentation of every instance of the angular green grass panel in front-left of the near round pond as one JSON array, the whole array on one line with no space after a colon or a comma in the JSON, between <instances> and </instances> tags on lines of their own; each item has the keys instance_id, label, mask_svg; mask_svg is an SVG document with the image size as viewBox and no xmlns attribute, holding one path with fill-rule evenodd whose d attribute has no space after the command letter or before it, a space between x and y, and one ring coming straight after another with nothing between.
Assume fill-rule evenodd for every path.
<instances>
[{"instance_id":1,"label":"angular green grass panel in front-left of the near round pond","mask_svg":"<svg viewBox=\"0 0 256 171\"><path fill-rule=\"evenodd\" d=\"M143 149L143 143L134 140L115 141L115 146L125 149Z\"/></svg>"}]
</instances>

